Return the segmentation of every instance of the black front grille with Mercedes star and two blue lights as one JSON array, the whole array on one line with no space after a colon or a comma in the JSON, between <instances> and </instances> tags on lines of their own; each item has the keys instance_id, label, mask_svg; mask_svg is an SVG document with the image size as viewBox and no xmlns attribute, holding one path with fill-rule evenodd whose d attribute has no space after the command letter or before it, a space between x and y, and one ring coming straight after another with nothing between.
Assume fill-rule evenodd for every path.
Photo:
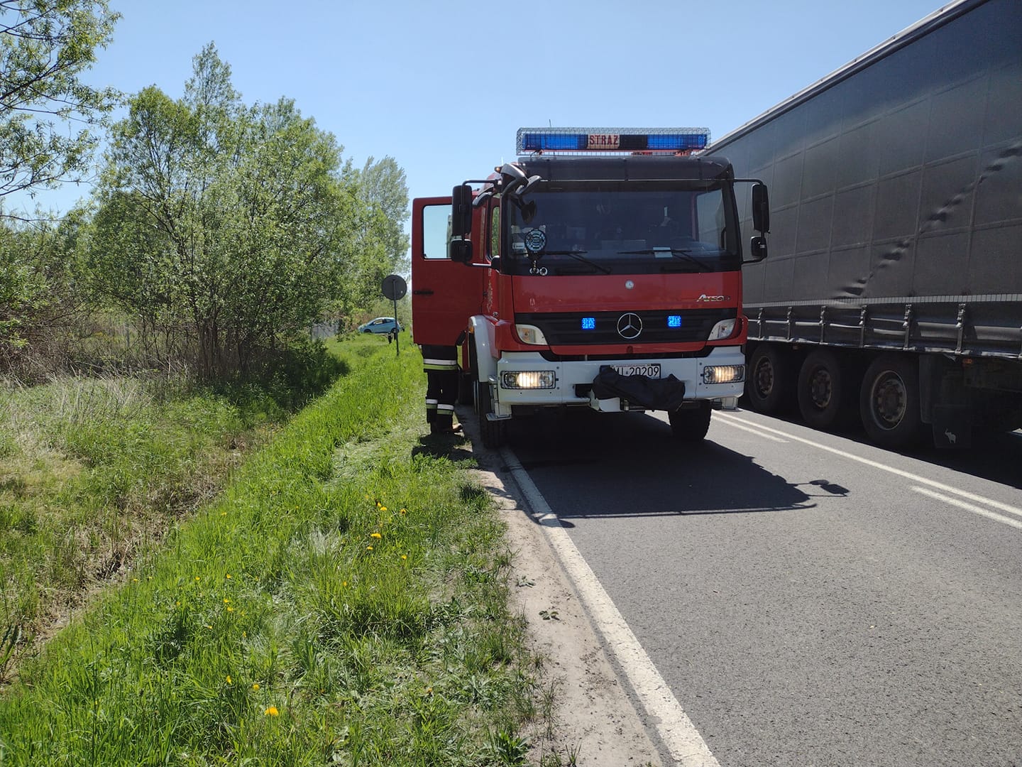
<instances>
[{"instance_id":1,"label":"black front grille with Mercedes star and two blue lights","mask_svg":"<svg viewBox=\"0 0 1022 767\"><path fill-rule=\"evenodd\" d=\"M634 337L624 337L617 331L618 323L625 314L634 314L642 321L642 331ZM516 314L514 321L520 325L539 327L550 346L678 344L706 341L713 325L736 316L738 310L734 308L657 309L633 312L523 313ZM670 326L670 317L680 318L680 322L675 321L677 327Z\"/></svg>"}]
</instances>

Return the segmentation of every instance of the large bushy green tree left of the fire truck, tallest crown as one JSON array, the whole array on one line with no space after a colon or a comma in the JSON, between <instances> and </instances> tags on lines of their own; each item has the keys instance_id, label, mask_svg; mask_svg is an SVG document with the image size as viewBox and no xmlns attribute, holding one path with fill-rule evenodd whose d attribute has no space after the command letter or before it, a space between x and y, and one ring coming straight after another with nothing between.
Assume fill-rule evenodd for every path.
<instances>
[{"instance_id":1,"label":"large bushy green tree left of the fire truck, tallest crown","mask_svg":"<svg viewBox=\"0 0 1022 767\"><path fill-rule=\"evenodd\" d=\"M190 349L201 375L243 371L340 292L357 179L293 101L246 107L212 44L182 99L150 87L129 103L100 184L94 282L173 336L164 351Z\"/></svg>"}]
</instances>

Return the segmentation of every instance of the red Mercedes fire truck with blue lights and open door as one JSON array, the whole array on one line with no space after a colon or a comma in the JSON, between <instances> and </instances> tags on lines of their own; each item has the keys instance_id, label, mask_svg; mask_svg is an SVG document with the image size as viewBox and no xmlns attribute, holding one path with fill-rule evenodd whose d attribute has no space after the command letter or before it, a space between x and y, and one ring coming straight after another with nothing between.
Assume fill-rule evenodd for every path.
<instances>
[{"instance_id":1,"label":"red Mercedes fire truck with blue lights and open door","mask_svg":"<svg viewBox=\"0 0 1022 767\"><path fill-rule=\"evenodd\" d=\"M415 199L415 343L457 352L483 444L547 408L664 410L702 440L745 376L739 206L766 256L765 186L704 129L529 129L518 160ZM751 184L751 187L740 185ZM736 186L737 185L737 186ZM751 191L751 194L749 193Z\"/></svg>"}]
</instances>

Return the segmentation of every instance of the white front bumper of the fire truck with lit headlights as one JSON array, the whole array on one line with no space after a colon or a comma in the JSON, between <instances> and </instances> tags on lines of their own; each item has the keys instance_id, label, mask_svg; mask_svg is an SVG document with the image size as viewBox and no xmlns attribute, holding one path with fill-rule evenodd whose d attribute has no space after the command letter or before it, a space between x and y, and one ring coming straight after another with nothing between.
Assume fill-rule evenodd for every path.
<instances>
[{"instance_id":1,"label":"white front bumper of the fire truck with lit headlights","mask_svg":"<svg viewBox=\"0 0 1022 767\"><path fill-rule=\"evenodd\" d=\"M538 352L506 352L497 361L494 411L497 416L511 415L511 408L518 406L579 406L598 410L629 409L629 403L613 400L598 400L592 397L593 379L606 365L641 366L660 365L660 377L673 375L685 385L685 401L710 400L723 405L732 404L741 396L742 380L729 384L706 384L703 370L706 367L744 366L745 355L741 347L716 347L706 357L686 357L682 359L621 360L570 360L550 362ZM548 389L508 389L504 386L506 372L552 371L553 386ZM549 377L549 376L548 376ZM632 408L635 409L635 408Z\"/></svg>"}]
</instances>

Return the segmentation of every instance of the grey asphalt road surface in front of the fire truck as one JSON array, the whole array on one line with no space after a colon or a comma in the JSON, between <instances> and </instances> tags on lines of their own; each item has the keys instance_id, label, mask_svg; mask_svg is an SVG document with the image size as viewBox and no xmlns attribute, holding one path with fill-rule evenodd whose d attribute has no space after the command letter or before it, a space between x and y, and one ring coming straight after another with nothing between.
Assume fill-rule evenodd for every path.
<instances>
[{"instance_id":1,"label":"grey asphalt road surface in front of the fire truck","mask_svg":"<svg viewBox=\"0 0 1022 767\"><path fill-rule=\"evenodd\" d=\"M512 448L722 767L1022 765L1022 435L854 438L584 412Z\"/></svg>"}]
</instances>

